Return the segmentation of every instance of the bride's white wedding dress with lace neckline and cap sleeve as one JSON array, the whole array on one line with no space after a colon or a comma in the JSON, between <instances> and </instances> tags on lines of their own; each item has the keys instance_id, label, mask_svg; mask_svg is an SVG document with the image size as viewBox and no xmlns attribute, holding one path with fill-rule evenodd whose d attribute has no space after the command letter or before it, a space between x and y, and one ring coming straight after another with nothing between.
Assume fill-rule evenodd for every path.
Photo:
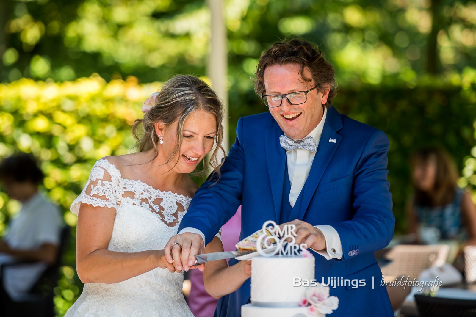
<instances>
[{"instance_id":1,"label":"bride's white wedding dress with lace neckline and cap sleeve","mask_svg":"<svg viewBox=\"0 0 476 317\"><path fill-rule=\"evenodd\" d=\"M114 164L100 159L83 191L80 203L116 209L108 250L139 252L163 249L187 212L191 198L122 178ZM219 238L219 233L217 234ZM183 273L155 268L114 284L88 283L65 317L173 316L193 317L182 295Z\"/></svg>"}]
</instances>

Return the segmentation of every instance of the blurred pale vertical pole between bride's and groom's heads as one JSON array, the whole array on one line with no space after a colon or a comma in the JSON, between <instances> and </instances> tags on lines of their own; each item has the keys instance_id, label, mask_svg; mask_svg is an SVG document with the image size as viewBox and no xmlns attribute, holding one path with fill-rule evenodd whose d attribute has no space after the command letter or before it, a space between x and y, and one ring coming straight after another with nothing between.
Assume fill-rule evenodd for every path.
<instances>
[{"instance_id":1,"label":"blurred pale vertical pole between bride's and groom's heads","mask_svg":"<svg viewBox=\"0 0 476 317\"><path fill-rule=\"evenodd\" d=\"M223 142L222 147L228 154L228 59L227 59L227 29L225 25L225 11L223 0L207 0L211 13L211 48L208 56L208 77L211 80L212 88L217 92L218 97L223 100Z\"/></svg>"}]
</instances>

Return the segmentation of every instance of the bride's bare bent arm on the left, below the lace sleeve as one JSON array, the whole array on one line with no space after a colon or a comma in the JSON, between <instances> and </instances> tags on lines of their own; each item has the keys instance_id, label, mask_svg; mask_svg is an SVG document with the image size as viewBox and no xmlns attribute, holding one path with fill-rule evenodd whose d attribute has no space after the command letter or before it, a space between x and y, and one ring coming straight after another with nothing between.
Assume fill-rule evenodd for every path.
<instances>
[{"instance_id":1,"label":"bride's bare bent arm on the left, below the lace sleeve","mask_svg":"<svg viewBox=\"0 0 476 317\"><path fill-rule=\"evenodd\" d=\"M175 272L164 250L134 253L109 251L115 208L81 203L76 235L76 269L83 283L118 283L156 267Z\"/></svg>"}]
</instances>

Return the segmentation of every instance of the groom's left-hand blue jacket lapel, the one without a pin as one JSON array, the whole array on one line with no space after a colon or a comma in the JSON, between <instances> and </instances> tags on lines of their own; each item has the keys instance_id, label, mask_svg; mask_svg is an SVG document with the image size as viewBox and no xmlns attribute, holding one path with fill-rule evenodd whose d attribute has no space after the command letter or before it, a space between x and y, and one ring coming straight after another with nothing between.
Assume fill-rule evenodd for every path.
<instances>
[{"instance_id":1,"label":"groom's left-hand blue jacket lapel, the one without a pin","mask_svg":"<svg viewBox=\"0 0 476 317\"><path fill-rule=\"evenodd\" d=\"M275 123L265 132L266 165L268 166L269 182L276 212L276 221L279 223L281 214L281 200L283 197L284 176L287 175L286 151L279 144L279 136L283 134L278 124Z\"/></svg>"}]
</instances>

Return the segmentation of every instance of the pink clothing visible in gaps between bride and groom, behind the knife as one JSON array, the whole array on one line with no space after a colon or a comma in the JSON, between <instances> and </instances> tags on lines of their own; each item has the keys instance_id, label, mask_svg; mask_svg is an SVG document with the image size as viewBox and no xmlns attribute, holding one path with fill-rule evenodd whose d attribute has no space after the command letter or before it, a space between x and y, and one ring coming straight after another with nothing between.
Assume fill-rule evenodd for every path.
<instances>
[{"instance_id":1,"label":"pink clothing visible in gaps between bride and groom, behind the knife","mask_svg":"<svg viewBox=\"0 0 476 317\"><path fill-rule=\"evenodd\" d=\"M221 228L221 239L225 251L236 250L235 244L239 240L241 231L241 206L230 220ZM228 260L227 260L228 262ZM190 270L188 277L192 282L190 295L187 298L188 306L195 317L213 317L218 299L208 295L203 285L203 275L199 270Z\"/></svg>"}]
</instances>

